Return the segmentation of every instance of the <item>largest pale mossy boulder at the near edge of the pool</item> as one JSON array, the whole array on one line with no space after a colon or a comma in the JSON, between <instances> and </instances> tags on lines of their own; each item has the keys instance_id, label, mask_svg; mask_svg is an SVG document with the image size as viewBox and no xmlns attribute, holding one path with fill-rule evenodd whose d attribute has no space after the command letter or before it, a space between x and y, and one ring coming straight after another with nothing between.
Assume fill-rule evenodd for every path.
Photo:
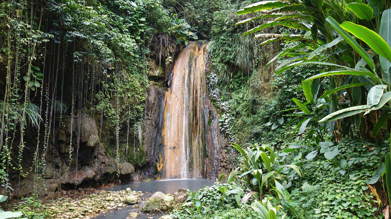
<instances>
[{"instance_id":1,"label":"largest pale mossy boulder at the near edge of the pool","mask_svg":"<svg viewBox=\"0 0 391 219\"><path fill-rule=\"evenodd\" d=\"M165 195L161 191L155 192L148 198L145 205L141 208L142 212L160 212L172 209L172 201L174 197Z\"/></svg>"}]
</instances>

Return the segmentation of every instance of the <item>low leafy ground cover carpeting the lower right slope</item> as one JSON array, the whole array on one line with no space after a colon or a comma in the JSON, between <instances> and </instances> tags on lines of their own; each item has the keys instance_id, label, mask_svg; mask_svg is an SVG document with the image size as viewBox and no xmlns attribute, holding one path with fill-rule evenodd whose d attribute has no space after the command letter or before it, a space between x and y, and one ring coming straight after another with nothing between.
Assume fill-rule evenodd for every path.
<instances>
[{"instance_id":1,"label":"low leafy ground cover carpeting the lower right slope","mask_svg":"<svg viewBox=\"0 0 391 219\"><path fill-rule=\"evenodd\" d=\"M319 147L329 148L331 145L329 142ZM288 158L304 173L300 178L301 187L298 186L300 188L296 192L292 191L294 193L292 200L298 202L314 199L306 208L301 210L298 208L296 213L289 213L289 216L292 218L382 218L377 212L379 203L365 181L370 179L372 172L381 165L382 160L378 157L384 156L387 150L385 143L373 144L344 139L335 147L338 148L338 155L328 157L329 159L319 154L315 154L312 158L298 155L298 153L305 154L306 151L313 151L313 148L308 146L296 147L294 152L296 155ZM322 149L320 151L324 152ZM296 185L300 185L300 182Z\"/></svg>"}]
</instances>

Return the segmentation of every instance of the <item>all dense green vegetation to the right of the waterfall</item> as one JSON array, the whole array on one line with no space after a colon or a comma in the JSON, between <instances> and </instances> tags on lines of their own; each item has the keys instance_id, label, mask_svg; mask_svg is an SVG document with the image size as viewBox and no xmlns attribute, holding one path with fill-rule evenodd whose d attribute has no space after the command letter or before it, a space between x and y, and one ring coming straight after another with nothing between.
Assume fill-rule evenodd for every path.
<instances>
[{"instance_id":1,"label":"all dense green vegetation to the right of the waterfall","mask_svg":"<svg viewBox=\"0 0 391 219\"><path fill-rule=\"evenodd\" d=\"M209 32L232 172L171 215L388 217L389 2L241 3L222 4Z\"/></svg>"}]
</instances>

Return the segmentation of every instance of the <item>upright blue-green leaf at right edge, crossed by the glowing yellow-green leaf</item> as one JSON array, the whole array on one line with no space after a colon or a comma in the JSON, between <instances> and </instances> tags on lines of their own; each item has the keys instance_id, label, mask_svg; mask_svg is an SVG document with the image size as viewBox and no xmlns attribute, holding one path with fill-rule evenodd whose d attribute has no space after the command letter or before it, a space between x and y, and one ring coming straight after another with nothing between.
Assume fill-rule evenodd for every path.
<instances>
[{"instance_id":1,"label":"upright blue-green leaf at right edge, crossed by the glowing yellow-green leaf","mask_svg":"<svg viewBox=\"0 0 391 219\"><path fill-rule=\"evenodd\" d=\"M391 8L384 10L381 15L381 23L379 35L385 40L388 46L391 47ZM382 78L387 83L391 83L391 62L387 60L385 57L380 56L380 66Z\"/></svg>"}]
</instances>

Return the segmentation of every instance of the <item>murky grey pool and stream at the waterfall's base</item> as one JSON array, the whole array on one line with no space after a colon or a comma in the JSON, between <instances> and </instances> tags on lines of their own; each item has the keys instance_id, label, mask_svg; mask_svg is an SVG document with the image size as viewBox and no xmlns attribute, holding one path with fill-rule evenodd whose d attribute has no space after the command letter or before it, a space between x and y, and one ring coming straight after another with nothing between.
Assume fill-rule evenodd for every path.
<instances>
[{"instance_id":1,"label":"murky grey pool and stream at the waterfall's base","mask_svg":"<svg viewBox=\"0 0 391 219\"><path fill-rule=\"evenodd\" d=\"M161 191L163 193L171 193L173 194L178 188L188 188L190 190L198 190L203 188L204 186L211 186L215 180L211 179L165 179L165 180L155 180L155 181L145 181L145 182L131 182L127 184L121 184L112 188L107 188L107 190L117 191L117 190L125 190L127 187L131 188L134 191L143 191L149 192L142 196L142 198L146 199L153 192ZM149 194L149 195L148 195ZM159 218L163 213L142 213L141 207L144 206L145 200L140 200L138 204L139 208L132 208L132 205L127 205L122 207L121 209L110 210L106 213L96 217L100 219L125 219L129 216L129 212L139 212L140 216L137 217L139 219L150 219L150 218Z\"/></svg>"}]
</instances>

